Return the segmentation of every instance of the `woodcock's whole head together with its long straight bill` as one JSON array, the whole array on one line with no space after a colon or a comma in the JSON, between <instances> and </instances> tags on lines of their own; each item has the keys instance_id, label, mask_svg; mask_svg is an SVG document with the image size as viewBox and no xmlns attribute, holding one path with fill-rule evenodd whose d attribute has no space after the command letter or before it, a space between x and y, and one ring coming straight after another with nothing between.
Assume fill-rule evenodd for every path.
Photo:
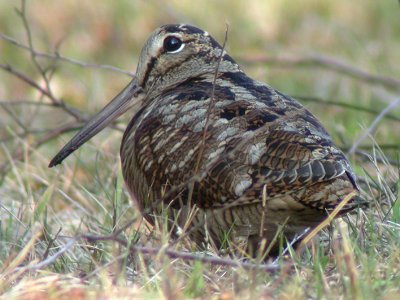
<instances>
[{"instance_id":1,"label":"woodcock's whole head together with its long straight bill","mask_svg":"<svg viewBox=\"0 0 400 300\"><path fill-rule=\"evenodd\" d=\"M238 65L206 31L186 24L164 25L146 41L139 57L136 76L51 160L49 167L99 133L132 106L142 106L154 95L196 77L238 71Z\"/></svg>"}]
</instances>

